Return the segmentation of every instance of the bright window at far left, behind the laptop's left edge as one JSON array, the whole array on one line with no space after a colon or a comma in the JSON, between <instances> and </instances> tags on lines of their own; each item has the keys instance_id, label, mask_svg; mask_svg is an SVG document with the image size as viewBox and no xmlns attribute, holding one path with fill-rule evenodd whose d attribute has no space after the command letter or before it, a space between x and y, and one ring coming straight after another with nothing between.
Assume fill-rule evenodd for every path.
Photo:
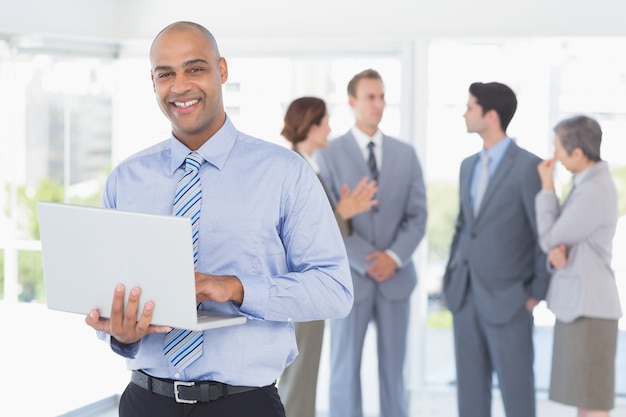
<instances>
[{"instance_id":1,"label":"bright window at far left, behind the laptop's left edge","mask_svg":"<svg viewBox=\"0 0 626 417\"><path fill-rule=\"evenodd\" d=\"M11 156L3 160L0 224L11 231L4 234L11 246L25 248L39 238L37 201L99 203L111 166L111 62L16 54L0 68L12 97L0 104L9 115L1 153ZM41 262L26 253L18 257L18 293L9 296L44 302L34 266Z\"/></svg>"}]
</instances>

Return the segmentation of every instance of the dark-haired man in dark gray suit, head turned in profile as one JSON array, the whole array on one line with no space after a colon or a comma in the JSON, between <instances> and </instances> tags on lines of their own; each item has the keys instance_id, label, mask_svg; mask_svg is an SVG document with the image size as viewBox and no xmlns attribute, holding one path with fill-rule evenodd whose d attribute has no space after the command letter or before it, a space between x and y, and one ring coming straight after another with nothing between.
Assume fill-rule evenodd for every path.
<instances>
[{"instance_id":1,"label":"dark-haired man in dark gray suit, head turned in profile","mask_svg":"<svg viewBox=\"0 0 626 417\"><path fill-rule=\"evenodd\" d=\"M532 310L549 274L535 222L540 159L506 134L516 108L504 84L469 88L463 117L483 149L461 164L460 212L444 275L460 417L491 415L494 371L507 417L535 416Z\"/></svg>"}]
</instances>

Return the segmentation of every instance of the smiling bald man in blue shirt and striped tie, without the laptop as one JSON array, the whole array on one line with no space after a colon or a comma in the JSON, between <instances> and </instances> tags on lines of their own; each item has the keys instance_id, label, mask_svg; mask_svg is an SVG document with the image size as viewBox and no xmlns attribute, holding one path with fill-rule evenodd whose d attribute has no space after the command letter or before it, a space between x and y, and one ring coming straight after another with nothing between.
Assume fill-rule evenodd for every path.
<instances>
[{"instance_id":1,"label":"smiling bald man in blue shirt and striped tie, without the laptop","mask_svg":"<svg viewBox=\"0 0 626 417\"><path fill-rule=\"evenodd\" d=\"M167 26L150 62L172 135L118 165L103 204L189 214L197 301L248 320L204 332L155 326L159 306L150 300L137 320L140 288L112 288L110 312L94 309L85 321L132 371L119 415L284 417L274 381L297 354L292 323L344 317L352 307L334 215L300 156L235 128L222 97L228 65L206 28Z\"/></svg>"}]
</instances>

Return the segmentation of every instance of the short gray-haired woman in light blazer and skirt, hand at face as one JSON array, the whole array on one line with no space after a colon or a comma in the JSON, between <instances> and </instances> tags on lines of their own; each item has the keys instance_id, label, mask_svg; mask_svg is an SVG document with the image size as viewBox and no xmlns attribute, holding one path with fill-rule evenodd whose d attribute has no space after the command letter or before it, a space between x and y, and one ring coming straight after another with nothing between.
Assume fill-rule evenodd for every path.
<instances>
[{"instance_id":1,"label":"short gray-haired woman in light blazer and skirt, hand at face","mask_svg":"<svg viewBox=\"0 0 626 417\"><path fill-rule=\"evenodd\" d=\"M608 417L622 317L611 268L617 190L600 158L595 119L565 119L554 133L554 157L538 166L542 190L535 200L539 243L554 268L546 297L556 316L550 399L577 407L578 417ZM554 192L556 161L574 174L563 205Z\"/></svg>"}]
</instances>

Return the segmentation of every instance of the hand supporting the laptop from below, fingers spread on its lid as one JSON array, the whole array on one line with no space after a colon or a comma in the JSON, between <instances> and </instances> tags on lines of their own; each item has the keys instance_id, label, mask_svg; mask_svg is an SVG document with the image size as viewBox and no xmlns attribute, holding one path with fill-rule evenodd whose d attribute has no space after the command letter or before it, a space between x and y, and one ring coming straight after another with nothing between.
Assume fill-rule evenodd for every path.
<instances>
[{"instance_id":1,"label":"hand supporting the laptop from below, fingers spread on its lid","mask_svg":"<svg viewBox=\"0 0 626 417\"><path fill-rule=\"evenodd\" d=\"M133 288L130 290L126 308L124 308L124 292L123 284L118 284L115 287L111 305L111 318L101 318L98 310L94 309L85 317L85 323L96 330L111 335L124 344L138 342L142 337L150 333L167 333L172 330L169 326L153 326L150 324L152 322L152 313L154 312L154 303L152 301L145 303L141 316L137 320L141 289Z\"/></svg>"}]
</instances>

